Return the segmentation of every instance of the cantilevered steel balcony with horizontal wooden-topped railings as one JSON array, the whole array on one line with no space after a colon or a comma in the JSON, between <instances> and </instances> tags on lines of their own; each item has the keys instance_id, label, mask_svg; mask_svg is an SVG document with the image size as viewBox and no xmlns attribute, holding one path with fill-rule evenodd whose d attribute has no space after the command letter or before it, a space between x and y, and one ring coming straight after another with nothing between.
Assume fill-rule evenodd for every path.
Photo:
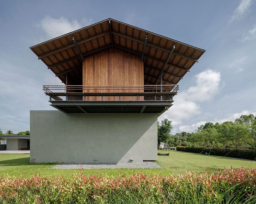
<instances>
[{"instance_id":1,"label":"cantilevered steel balcony with horizontal wooden-topped railings","mask_svg":"<svg viewBox=\"0 0 256 204\"><path fill-rule=\"evenodd\" d=\"M172 106L178 85L44 85L64 113L157 113Z\"/></svg>"}]
</instances>

